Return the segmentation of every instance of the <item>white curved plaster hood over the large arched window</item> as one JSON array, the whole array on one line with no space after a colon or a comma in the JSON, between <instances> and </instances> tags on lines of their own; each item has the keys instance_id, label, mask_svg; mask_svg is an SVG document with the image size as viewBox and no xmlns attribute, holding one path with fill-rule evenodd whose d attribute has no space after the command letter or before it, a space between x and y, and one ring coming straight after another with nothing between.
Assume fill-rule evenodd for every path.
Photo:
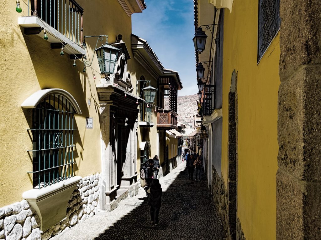
<instances>
[{"instance_id":1,"label":"white curved plaster hood over the large arched window","mask_svg":"<svg viewBox=\"0 0 321 240\"><path fill-rule=\"evenodd\" d=\"M59 94L64 96L74 107L76 114L81 114L80 107L74 97L67 91L60 89L60 88L48 88L39 90L29 96L26 100L23 101L21 104L22 108L36 108L39 102L44 99L45 97L53 94Z\"/></svg>"}]
</instances>

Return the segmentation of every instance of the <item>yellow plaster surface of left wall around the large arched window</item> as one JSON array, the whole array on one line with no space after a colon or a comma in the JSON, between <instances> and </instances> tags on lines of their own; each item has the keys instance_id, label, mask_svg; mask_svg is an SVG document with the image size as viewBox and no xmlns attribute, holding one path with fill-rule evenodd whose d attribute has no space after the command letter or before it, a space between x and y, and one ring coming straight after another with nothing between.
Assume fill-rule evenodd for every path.
<instances>
[{"instance_id":1,"label":"yellow plaster surface of left wall around the large arched window","mask_svg":"<svg viewBox=\"0 0 321 240\"><path fill-rule=\"evenodd\" d=\"M25 1L26 0L22 0ZM69 55L61 57L60 49L50 49L50 43L37 35L24 35L18 25L18 17L27 16L27 6L21 1L23 12L15 12L15 3L4 1L0 4L0 207L21 201L22 193L32 188L32 159L28 149L32 141L27 132L31 124L31 110L20 105L32 93L45 88L62 88L70 92L78 102L82 114L75 117L78 131L76 141L76 175L86 176L101 171L99 101L96 84L99 74L93 79L94 71L77 60L72 66ZM131 18L126 15L118 1L77 1L84 8L84 35L109 35L114 43L118 34L123 35L130 50ZM93 7L96 5L96 7ZM97 57L92 51L97 38L88 38L87 58L93 59L92 68L99 71ZM132 56L131 50L130 54ZM128 61L129 70L131 61ZM133 77L135 82L135 78ZM91 99L88 106L87 99ZM85 118L93 117L93 129L85 128ZM32 155L31 155L32 156Z\"/></svg>"}]
</instances>

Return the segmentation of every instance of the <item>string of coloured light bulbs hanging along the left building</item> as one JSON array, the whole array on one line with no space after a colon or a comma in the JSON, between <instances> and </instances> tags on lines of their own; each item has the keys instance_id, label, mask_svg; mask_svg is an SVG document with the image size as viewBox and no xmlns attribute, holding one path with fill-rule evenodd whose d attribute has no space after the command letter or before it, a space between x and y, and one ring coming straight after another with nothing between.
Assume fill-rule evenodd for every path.
<instances>
[{"instance_id":1,"label":"string of coloured light bulbs hanging along the left building","mask_svg":"<svg viewBox=\"0 0 321 240\"><path fill-rule=\"evenodd\" d=\"M26 5L26 7L30 10L30 12L32 12L32 14L34 13L34 11L28 6L28 4L26 4L25 2L24 2L24 0L22 0L22 2ZM21 13L22 12L22 8L21 8L21 6L20 6L20 1L19 0L16 0L16 12L18 12L18 13ZM48 40L48 35L47 35L47 31L50 33L50 34L52 34L53 36L54 36L54 34L52 33L52 32L50 32L48 29L47 29L47 31L46 31L46 29L45 29L45 22L38 16L38 15L33 15L33 16L36 16L36 17L38 17L38 19L41 21L41 23L43 24L43 34L44 34L44 36L43 36L43 38L45 39L45 40ZM64 53L64 48L66 48L66 49L68 49L70 52L72 52L71 51L71 49L67 46L67 45L65 45L65 43L63 43L59 38L58 38L58 40L60 41L60 43L62 44L62 48L61 48L61 51L60 51L60 56L64 56L65 55L65 53ZM88 56L89 56L89 52L88 52L88 50L86 49L86 51L87 51L87 53L88 53ZM74 59L74 62L73 62L73 67L77 67L77 64L76 64L76 58L77 58L77 60L80 60L83 64L84 64L84 68L83 68L83 70L82 70L82 72L86 72L86 67L89 67L89 68L91 68L91 70L92 71L94 71L94 72L97 72L98 74L100 74L100 71L97 71L95 68L93 68L93 67L91 67L91 66L86 66L86 63L85 63L85 61L84 60L82 60L81 58L79 58L78 56L76 56L76 55L74 55L75 56L75 59ZM96 76L95 76L95 73L93 73L93 78L94 79L96 79ZM89 84L91 84L90 83L90 80L89 80L89 78L88 78L88 81L89 81ZM117 85L118 86L118 84L115 84L114 83L114 85ZM127 94L126 94L126 92L127 92L127 89L125 90L125 98L127 97ZM128 92L129 93L129 92ZM136 104L138 104L138 95L136 94L136 98L137 98L137 100L136 100ZM159 107L159 106L157 106L157 105L154 105L154 104L152 104L152 103L149 103L149 102L146 102L146 101L144 101L144 103L145 104L147 104L147 108L149 108L149 105L151 105L151 106L154 106L155 107L155 112L157 112L157 109L156 108L158 108L158 109L160 109L160 110L163 110L163 113L164 113L164 110L166 110L166 111L169 111L170 112L170 114L171 115L175 115L175 116L178 116L178 114L176 113L176 112L174 112L173 110L169 110L169 109L164 109L164 108L161 108L161 107Z\"/></svg>"}]
</instances>

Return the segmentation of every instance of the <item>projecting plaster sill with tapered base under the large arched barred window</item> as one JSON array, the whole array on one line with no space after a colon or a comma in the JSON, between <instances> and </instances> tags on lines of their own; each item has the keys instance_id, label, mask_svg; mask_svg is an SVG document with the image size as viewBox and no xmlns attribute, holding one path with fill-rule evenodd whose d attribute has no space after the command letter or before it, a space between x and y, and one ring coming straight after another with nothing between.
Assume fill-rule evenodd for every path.
<instances>
[{"instance_id":1,"label":"projecting plaster sill with tapered base under the large arched barred window","mask_svg":"<svg viewBox=\"0 0 321 240\"><path fill-rule=\"evenodd\" d=\"M75 176L46 188L34 188L22 194L38 213L41 231L46 231L66 218L69 198L81 179L82 177Z\"/></svg>"}]
</instances>

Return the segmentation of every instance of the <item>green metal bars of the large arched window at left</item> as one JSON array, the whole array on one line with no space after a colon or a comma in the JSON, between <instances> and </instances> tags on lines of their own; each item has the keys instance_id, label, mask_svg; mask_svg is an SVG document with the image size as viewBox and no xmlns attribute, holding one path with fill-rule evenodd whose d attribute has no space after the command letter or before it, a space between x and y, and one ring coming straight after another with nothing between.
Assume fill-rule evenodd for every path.
<instances>
[{"instance_id":1,"label":"green metal bars of the large arched window at left","mask_svg":"<svg viewBox=\"0 0 321 240\"><path fill-rule=\"evenodd\" d=\"M50 186L74 176L74 108L61 95L42 100L32 113L33 187Z\"/></svg>"}]
</instances>

